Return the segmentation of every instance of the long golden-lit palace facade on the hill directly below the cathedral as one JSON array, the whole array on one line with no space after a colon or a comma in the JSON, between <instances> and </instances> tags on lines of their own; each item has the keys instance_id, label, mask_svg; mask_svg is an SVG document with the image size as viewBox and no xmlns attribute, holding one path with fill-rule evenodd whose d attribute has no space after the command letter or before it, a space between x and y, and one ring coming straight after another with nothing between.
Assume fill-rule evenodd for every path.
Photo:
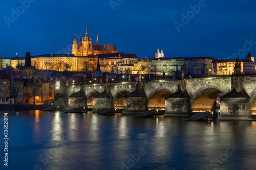
<instances>
[{"instance_id":1,"label":"long golden-lit palace facade on the hill directly below the cathedral","mask_svg":"<svg viewBox=\"0 0 256 170\"><path fill-rule=\"evenodd\" d=\"M68 70L68 71L95 71L99 57L100 69L110 72L116 66L131 66L138 61L135 54L112 53L89 56L75 56L73 54L45 54L31 57L32 65L37 69ZM66 68L65 64L70 67Z\"/></svg>"}]
</instances>

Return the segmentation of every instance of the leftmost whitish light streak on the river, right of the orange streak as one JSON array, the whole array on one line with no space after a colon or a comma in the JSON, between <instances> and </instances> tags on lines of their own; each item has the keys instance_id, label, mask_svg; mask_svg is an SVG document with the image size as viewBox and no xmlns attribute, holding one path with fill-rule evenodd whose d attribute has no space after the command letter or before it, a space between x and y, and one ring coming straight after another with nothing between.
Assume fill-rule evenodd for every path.
<instances>
[{"instance_id":1,"label":"leftmost whitish light streak on the river, right of the orange streak","mask_svg":"<svg viewBox=\"0 0 256 170\"><path fill-rule=\"evenodd\" d=\"M61 141L62 139L63 127L60 115L60 112L55 112L52 120L51 139L54 141Z\"/></svg>"}]
</instances>

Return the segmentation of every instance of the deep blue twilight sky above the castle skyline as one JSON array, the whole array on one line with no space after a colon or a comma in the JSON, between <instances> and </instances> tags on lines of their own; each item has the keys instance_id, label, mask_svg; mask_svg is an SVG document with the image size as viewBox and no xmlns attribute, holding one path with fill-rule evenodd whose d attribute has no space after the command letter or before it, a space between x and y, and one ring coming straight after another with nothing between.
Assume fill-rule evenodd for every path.
<instances>
[{"instance_id":1,"label":"deep blue twilight sky above the castle skyline","mask_svg":"<svg viewBox=\"0 0 256 170\"><path fill-rule=\"evenodd\" d=\"M139 58L155 57L157 47L165 57L256 57L255 7L250 0L2 1L0 56L24 56L26 48L31 55L71 53L74 33L85 36L88 26L93 44L98 33L99 44Z\"/></svg>"}]
</instances>

